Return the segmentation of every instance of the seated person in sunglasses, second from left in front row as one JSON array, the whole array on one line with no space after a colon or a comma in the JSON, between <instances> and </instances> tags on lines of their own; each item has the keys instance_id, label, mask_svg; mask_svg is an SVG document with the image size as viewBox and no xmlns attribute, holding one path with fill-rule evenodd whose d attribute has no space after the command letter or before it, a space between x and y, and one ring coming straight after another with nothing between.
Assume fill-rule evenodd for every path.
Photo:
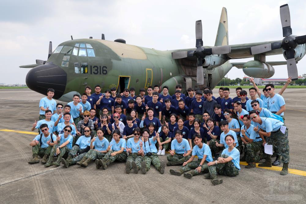
<instances>
[{"instance_id":1,"label":"seated person in sunglasses, second from left in front row","mask_svg":"<svg viewBox=\"0 0 306 204\"><path fill-rule=\"evenodd\" d=\"M47 162L45 162L44 166L59 166L61 159L63 157L67 158L68 152L72 149L73 136L70 134L72 131L72 127L66 125L64 127L64 133L59 134L56 138L57 144L53 146L50 156ZM58 142L60 142L58 144ZM53 162L53 156L57 155L57 160ZM65 155L65 156L64 156Z\"/></svg>"}]
</instances>

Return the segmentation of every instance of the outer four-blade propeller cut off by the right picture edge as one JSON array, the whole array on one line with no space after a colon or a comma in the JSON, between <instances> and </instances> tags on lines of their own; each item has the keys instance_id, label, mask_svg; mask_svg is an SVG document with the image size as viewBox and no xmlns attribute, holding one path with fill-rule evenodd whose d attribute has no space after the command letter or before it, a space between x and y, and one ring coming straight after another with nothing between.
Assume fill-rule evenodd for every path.
<instances>
[{"instance_id":1,"label":"outer four-blade propeller cut off by the right picture edge","mask_svg":"<svg viewBox=\"0 0 306 204\"><path fill-rule=\"evenodd\" d=\"M283 37L285 37L282 40L282 43L274 42L274 43L268 43L268 44L262 44L250 47L250 54L260 54L279 48L284 49L285 56L287 58L288 77L291 76L292 80L297 80L298 79L297 63L294 58L294 48L297 45L306 43L306 35L297 36L297 37L292 35L290 11L288 4L280 6L279 12L283 28Z\"/></svg>"}]
</instances>

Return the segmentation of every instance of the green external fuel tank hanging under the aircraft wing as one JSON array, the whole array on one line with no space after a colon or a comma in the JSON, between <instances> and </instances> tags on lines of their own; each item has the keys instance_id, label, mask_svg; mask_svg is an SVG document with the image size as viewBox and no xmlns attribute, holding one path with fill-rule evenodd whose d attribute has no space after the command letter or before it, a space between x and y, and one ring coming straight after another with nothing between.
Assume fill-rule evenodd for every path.
<instances>
[{"instance_id":1,"label":"green external fuel tank hanging under the aircraft wing","mask_svg":"<svg viewBox=\"0 0 306 204\"><path fill-rule=\"evenodd\" d=\"M260 61L248 61L243 65L244 74L254 78L270 78L274 75L274 67Z\"/></svg>"}]
</instances>

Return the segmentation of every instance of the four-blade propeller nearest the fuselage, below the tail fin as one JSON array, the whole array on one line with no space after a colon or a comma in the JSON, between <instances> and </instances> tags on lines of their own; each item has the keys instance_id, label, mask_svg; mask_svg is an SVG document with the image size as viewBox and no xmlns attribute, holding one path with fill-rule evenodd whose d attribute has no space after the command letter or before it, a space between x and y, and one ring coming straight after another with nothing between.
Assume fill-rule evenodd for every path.
<instances>
[{"instance_id":1,"label":"four-blade propeller nearest the fuselage, below the tail fin","mask_svg":"<svg viewBox=\"0 0 306 204\"><path fill-rule=\"evenodd\" d=\"M207 55L212 54L228 54L230 53L230 46L215 46L211 48L203 48L202 40L202 21L196 21L196 49L188 51L177 51L172 53L173 59L181 59L185 57L197 57L196 62L196 83L198 85L204 84L204 72L203 72L203 59Z\"/></svg>"}]
</instances>

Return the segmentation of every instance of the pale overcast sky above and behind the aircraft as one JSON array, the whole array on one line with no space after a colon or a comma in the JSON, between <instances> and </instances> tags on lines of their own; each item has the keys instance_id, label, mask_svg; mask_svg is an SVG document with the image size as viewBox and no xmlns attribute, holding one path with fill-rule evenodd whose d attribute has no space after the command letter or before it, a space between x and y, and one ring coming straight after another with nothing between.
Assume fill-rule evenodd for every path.
<instances>
[{"instance_id":1,"label":"pale overcast sky above and behind the aircraft","mask_svg":"<svg viewBox=\"0 0 306 204\"><path fill-rule=\"evenodd\" d=\"M203 43L213 46L222 7L226 7L229 43L281 40L279 6L289 4L293 35L306 35L306 2L303 1L3 1L0 13L0 83L25 84L30 69L20 65L47 60L49 41L122 38L127 44L174 50L195 47L195 21L202 20ZM231 62L250 61L231 60ZM267 61L284 61L282 55ZM297 64L306 73L306 60ZM273 77L288 77L286 66L275 66ZM3 74L4 73L4 74ZM244 77L232 68L229 78Z\"/></svg>"}]
</instances>

